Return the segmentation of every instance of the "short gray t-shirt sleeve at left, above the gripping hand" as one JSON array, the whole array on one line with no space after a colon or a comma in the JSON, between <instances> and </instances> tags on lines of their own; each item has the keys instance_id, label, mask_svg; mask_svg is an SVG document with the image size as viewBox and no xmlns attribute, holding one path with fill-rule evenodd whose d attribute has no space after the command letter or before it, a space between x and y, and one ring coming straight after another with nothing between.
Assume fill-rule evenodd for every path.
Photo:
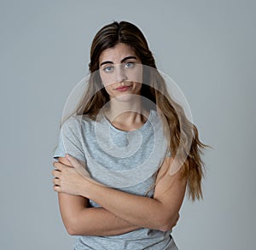
<instances>
[{"instance_id":1,"label":"short gray t-shirt sleeve at left, above the gripping hand","mask_svg":"<svg viewBox=\"0 0 256 250\"><path fill-rule=\"evenodd\" d=\"M70 154L78 160L85 161L82 145L83 137L79 120L74 118L67 119L61 125L59 142L54 150L53 157L57 160L59 157L65 157L65 154Z\"/></svg>"}]
</instances>

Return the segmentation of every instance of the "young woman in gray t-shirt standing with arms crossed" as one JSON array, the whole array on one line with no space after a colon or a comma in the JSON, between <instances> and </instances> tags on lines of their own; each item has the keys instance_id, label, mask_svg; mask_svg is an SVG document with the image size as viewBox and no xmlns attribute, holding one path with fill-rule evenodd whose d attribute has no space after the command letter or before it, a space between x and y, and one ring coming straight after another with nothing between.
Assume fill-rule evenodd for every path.
<instances>
[{"instance_id":1,"label":"young woman in gray t-shirt standing with arms crossed","mask_svg":"<svg viewBox=\"0 0 256 250\"><path fill-rule=\"evenodd\" d=\"M202 196L205 145L167 94L137 26L97 32L90 73L54 155L54 190L75 249L177 249L172 227L186 187L193 201Z\"/></svg>"}]
</instances>

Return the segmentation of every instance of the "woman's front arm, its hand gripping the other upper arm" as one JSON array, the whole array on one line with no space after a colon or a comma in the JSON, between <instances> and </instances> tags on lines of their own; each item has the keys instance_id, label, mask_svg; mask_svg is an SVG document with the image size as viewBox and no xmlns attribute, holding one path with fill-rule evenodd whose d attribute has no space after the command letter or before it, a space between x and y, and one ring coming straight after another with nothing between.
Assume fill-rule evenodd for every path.
<instances>
[{"instance_id":1,"label":"woman's front arm, its hand gripping the other upper arm","mask_svg":"<svg viewBox=\"0 0 256 250\"><path fill-rule=\"evenodd\" d=\"M73 160L71 157L70 160ZM71 161L75 163L75 161ZM117 217L124 219L130 224L138 227L171 230L178 211L182 205L186 189L186 182L180 178L180 171L175 175L170 175L172 158L166 158L157 177L157 184L154 190L154 199L139 195L131 195L125 192L111 189L84 177L78 177L78 173L73 171L67 173L67 168L61 164L55 164L60 171L60 187L55 191L74 193L87 197L100 204L109 212L113 212ZM67 180L70 177L71 179Z\"/></svg>"}]
</instances>

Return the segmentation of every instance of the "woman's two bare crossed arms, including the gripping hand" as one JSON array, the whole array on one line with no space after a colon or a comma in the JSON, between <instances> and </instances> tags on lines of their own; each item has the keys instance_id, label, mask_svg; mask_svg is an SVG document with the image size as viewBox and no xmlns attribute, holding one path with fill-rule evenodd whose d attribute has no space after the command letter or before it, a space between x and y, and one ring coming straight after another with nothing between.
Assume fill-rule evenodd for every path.
<instances>
[{"instance_id":1,"label":"woman's two bare crossed arms, including the gripping hand","mask_svg":"<svg viewBox=\"0 0 256 250\"><path fill-rule=\"evenodd\" d=\"M181 180L180 171L169 174L171 157L160 167L153 198L131 195L81 178L73 169L73 163L73 158L61 157L55 162L53 172L58 183L61 182L55 191L61 218L70 235L120 235L140 228L166 231L177 224L186 182ZM76 192L64 188L65 182L72 183L69 176L73 176ZM88 199L102 207L89 207Z\"/></svg>"}]
</instances>

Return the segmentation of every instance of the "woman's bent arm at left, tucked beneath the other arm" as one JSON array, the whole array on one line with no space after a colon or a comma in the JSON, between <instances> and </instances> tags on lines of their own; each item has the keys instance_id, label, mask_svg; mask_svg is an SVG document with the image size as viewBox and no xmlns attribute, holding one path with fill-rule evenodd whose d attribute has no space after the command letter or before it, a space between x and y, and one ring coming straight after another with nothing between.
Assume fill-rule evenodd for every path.
<instances>
[{"instance_id":1,"label":"woman's bent arm at left, tucked beneath the other arm","mask_svg":"<svg viewBox=\"0 0 256 250\"><path fill-rule=\"evenodd\" d=\"M65 158L59 161L71 166ZM61 218L70 235L119 235L139 228L102 207L87 207L88 200L82 196L58 193L58 198Z\"/></svg>"}]
</instances>

